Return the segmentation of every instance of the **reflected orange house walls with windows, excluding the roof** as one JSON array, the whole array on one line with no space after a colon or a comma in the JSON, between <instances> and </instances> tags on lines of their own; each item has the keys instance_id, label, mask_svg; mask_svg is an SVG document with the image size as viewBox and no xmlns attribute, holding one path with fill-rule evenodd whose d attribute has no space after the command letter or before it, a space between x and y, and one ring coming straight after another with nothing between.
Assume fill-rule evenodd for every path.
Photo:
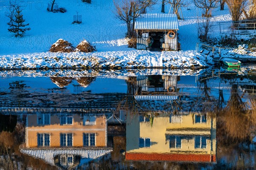
<instances>
[{"instance_id":1,"label":"reflected orange house walls with windows, excluding the roof","mask_svg":"<svg viewBox=\"0 0 256 170\"><path fill-rule=\"evenodd\" d=\"M26 147L107 146L104 116L33 114L27 116Z\"/></svg>"}]
</instances>

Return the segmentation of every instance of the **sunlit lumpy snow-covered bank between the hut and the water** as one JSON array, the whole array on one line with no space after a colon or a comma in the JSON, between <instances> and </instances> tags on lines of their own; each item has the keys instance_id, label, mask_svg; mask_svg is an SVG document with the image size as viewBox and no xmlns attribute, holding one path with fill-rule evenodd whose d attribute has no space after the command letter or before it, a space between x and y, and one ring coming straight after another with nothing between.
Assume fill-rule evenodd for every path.
<instances>
[{"instance_id":1,"label":"sunlit lumpy snow-covered bank between the hut and the water","mask_svg":"<svg viewBox=\"0 0 256 170\"><path fill-rule=\"evenodd\" d=\"M3 55L2 69L31 68L194 68L204 67L204 57L195 51L146 50L92 53L30 53Z\"/></svg>"}]
</instances>

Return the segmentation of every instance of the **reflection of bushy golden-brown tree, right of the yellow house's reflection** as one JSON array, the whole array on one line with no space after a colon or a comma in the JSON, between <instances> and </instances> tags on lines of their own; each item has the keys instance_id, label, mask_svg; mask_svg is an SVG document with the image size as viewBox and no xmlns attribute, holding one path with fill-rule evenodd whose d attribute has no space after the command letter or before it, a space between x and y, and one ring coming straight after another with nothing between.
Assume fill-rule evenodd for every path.
<instances>
[{"instance_id":1,"label":"reflection of bushy golden-brown tree, right of the yellow house's reflection","mask_svg":"<svg viewBox=\"0 0 256 170\"><path fill-rule=\"evenodd\" d=\"M242 101L238 91L238 84L233 83L231 86L230 99L224 110L219 112L218 132L219 142L236 143L250 140L251 133L255 128L255 104L250 99L251 109L248 109L245 102ZM254 132L255 133L255 132ZM221 138L225 136L226 138Z\"/></svg>"}]
</instances>

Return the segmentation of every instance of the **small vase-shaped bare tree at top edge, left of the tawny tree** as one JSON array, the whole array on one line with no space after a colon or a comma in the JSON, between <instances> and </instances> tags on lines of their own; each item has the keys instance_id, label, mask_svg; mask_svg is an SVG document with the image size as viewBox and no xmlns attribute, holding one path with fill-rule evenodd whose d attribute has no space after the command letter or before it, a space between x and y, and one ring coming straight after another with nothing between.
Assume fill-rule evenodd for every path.
<instances>
[{"instance_id":1,"label":"small vase-shaped bare tree at top edge, left of the tawny tree","mask_svg":"<svg viewBox=\"0 0 256 170\"><path fill-rule=\"evenodd\" d=\"M204 17L211 17L211 9L217 8L219 0L194 0L195 6L204 10Z\"/></svg>"}]
</instances>

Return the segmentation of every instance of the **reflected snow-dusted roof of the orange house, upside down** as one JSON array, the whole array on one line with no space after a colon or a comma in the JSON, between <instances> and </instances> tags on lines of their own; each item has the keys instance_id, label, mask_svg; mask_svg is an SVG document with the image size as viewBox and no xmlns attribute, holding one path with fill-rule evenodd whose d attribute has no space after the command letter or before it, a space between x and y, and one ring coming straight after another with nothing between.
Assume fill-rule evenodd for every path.
<instances>
[{"instance_id":1,"label":"reflected snow-dusted roof of the orange house, upside down","mask_svg":"<svg viewBox=\"0 0 256 170\"><path fill-rule=\"evenodd\" d=\"M20 149L20 152L54 165L54 157L57 155L80 155L81 158L97 159L112 152L112 148L25 148Z\"/></svg>"}]
</instances>

